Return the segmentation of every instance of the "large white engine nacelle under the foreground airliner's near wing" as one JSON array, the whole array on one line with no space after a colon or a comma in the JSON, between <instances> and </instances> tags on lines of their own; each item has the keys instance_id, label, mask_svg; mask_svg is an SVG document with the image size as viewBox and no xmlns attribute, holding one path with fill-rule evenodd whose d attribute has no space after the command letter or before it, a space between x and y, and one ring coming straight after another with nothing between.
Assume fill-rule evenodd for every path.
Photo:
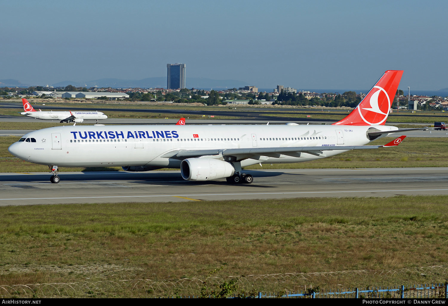
<instances>
[{"instance_id":1,"label":"large white engine nacelle under the foreground airliner's near wing","mask_svg":"<svg viewBox=\"0 0 448 306\"><path fill-rule=\"evenodd\" d=\"M182 178L189 181L210 181L228 178L235 168L227 161L212 158L187 158L181 162Z\"/></svg>"}]
</instances>

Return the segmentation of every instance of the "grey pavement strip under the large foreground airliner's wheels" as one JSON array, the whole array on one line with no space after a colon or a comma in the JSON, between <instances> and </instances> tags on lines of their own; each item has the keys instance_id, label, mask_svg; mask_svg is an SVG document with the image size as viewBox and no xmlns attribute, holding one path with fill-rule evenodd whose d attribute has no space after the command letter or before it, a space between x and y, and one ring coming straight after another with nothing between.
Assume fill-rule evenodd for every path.
<instances>
[{"instance_id":1,"label":"grey pavement strip under the large foreground airliner's wheels","mask_svg":"<svg viewBox=\"0 0 448 306\"><path fill-rule=\"evenodd\" d=\"M254 183L190 182L179 171L60 172L59 184L50 183L49 173L2 173L0 205L448 195L448 168L243 172L252 174Z\"/></svg>"}]
</instances>

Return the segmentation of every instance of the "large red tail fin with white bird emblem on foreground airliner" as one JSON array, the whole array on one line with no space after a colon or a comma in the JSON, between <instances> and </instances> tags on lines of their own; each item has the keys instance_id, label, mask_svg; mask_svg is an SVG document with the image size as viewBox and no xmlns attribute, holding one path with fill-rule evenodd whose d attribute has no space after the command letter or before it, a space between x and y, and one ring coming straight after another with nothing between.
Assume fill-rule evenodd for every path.
<instances>
[{"instance_id":1,"label":"large red tail fin with white bird emblem on foreground airliner","mask_svg":"<svg viewBox=\"0 0 448 306\"><path fill-rule=\"evenodd\" d=\"M369 93L344 119L336 125L384 125L400 84L403 70L388 70Z\"/></svg>"}]
</instances>

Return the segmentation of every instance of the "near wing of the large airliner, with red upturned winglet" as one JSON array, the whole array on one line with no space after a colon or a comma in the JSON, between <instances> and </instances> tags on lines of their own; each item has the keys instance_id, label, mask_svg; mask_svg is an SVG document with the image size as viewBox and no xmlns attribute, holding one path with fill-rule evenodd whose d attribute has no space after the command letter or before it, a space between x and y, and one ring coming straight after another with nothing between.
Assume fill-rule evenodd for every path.
<instances>
[{"instance_id":1,"label":"near wing of the large airliner, with red upturned winglet","mask_svg":"<svg viewBox=\"0 0 448 306\"><path fill-rule=\"evenodd\" d=\"M301 153L325 157L324 151L332 150L360 150L378 149L398 145L406 136L400 136L388 144L383 145L338 145L328 147L277 147L277 148L241 148L241 149L206 149L206 150L175 150L165 153L161 157L184 160L187 158L222 155L225 161L241 161L248 158L259 159L261 156L280 157L287 155L300 157Z\"/></svg>"}]
</instances>

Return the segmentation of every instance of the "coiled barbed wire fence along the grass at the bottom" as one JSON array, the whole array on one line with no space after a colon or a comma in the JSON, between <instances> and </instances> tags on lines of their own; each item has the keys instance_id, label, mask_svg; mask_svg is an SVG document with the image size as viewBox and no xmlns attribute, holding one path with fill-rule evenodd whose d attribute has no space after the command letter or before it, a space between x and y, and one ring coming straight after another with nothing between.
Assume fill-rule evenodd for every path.
<instances>
[{"instance_id":1,"label":"coiled barbed wire fence along the grass at the bottom","mask_svg":"<svg viewBox=\"0 0 448 306\"><path fill-rule=\"evenodd\" d=\"M0 297L173 297L198 296L204 284L219 287L237 279L238 292L298 292L327 284L328 288L394 286L446 282L447 266L393 270L350 270L336 272L276 273L241 276L204 276L177 280L99 280L71 283L0 285ZM347 281L349 280L349 283ZM337 282L345 281L345 284ZM321 287L322 288L322 287Z\"/></svg>"}]
</instances>

